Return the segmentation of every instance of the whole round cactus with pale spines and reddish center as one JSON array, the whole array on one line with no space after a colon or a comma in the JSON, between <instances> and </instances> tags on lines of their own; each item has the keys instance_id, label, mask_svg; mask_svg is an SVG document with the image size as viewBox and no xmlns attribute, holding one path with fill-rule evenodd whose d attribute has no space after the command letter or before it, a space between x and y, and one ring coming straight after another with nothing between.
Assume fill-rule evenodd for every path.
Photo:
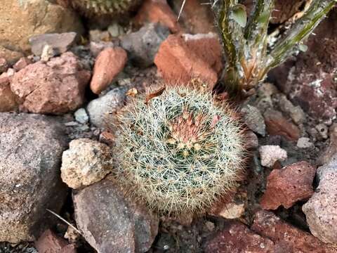
<instances>
[{"instance_id":1,"label":"whole round cactus with pale spines and reddish center","mask_svg":"<svg viewBox=\"0 0 337 253\"><path fill-rule=\"evenodd\" d=\"M117 180L161 214L206 212L242 173L242 127L210 93L170 87L135 98L114 127Z\"/></svg>"}]
</instances>

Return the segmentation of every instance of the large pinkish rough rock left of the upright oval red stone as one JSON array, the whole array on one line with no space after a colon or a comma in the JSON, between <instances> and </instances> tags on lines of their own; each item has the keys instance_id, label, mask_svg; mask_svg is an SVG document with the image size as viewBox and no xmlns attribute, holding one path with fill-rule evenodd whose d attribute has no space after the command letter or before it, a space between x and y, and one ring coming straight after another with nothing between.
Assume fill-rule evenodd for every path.
<instances>
[{"instance_id":1,"label":"large pinkish rough rock left of the upright oval red stone","mask_svg":"<svg viewBox=\"0 0 337 253\"><path fill-rule=\"evenodd\" d=\"M73 53L67 52L15 73L11 90L20 98L22 110L60 115L84 103L89 79L90 72L81 68Z\"/></svg>"}]
</instances>

